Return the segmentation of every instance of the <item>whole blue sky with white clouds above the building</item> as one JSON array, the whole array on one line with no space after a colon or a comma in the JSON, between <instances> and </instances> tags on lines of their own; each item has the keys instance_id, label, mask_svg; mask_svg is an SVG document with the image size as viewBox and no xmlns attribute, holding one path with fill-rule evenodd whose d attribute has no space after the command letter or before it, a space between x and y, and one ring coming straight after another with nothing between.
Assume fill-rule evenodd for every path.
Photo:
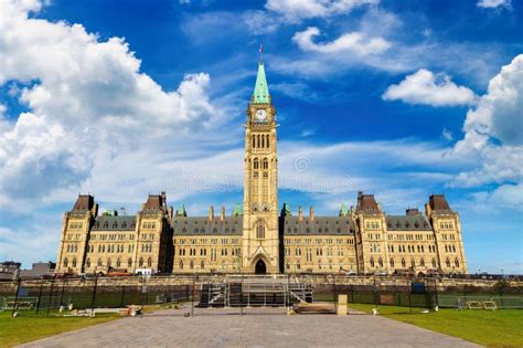
<instances>
[{"instance_id":1,"label":"whole blue sky with white clouds above the building","mask_svg":"<svg viewBox=\"0 0 523 348\"><path fill-rule=\"evenodd\" d=\"M0 3L0 260L54 260L78 192L242 201L264 45L280 204L389 214L445 192L469 271L523 273L521 1Z\"/></svg>"}]
</instances>

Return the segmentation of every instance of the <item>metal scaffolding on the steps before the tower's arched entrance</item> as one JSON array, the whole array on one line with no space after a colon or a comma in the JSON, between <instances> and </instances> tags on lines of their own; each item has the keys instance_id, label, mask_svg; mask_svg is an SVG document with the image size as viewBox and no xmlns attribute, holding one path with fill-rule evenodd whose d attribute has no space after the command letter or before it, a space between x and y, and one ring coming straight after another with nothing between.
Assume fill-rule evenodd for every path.
<instances>
[{"instance_id":1,"label":"metal scaffolding on the steps before the tower's arched entrance","mask_svg":"<svg viewBox=\"0 0 523 348\"><path fill-rule=\"evenodd\" d=\"M284 307L312 302L310 282L289 275L228 275L201 285L199 307Z\"/></svg>"}]
</instances>

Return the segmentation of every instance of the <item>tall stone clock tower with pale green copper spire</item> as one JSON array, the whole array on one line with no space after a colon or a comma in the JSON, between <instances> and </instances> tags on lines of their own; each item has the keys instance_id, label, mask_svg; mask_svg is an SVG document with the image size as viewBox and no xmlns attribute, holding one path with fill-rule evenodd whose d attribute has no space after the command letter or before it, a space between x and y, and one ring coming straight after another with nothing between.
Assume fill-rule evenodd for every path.
<instances>
[{"instance_id":1,"label":"tall stone clock tower with pale green copper spire","mask_svg":"<svg viewBox=\"0 0 523 348\"><path fill-rule=\"evenodd\" d=\"M276 127L276 109L260 61L245 124L242 253L245 273L279 273Z\"/></svg>"}]
</instances>

